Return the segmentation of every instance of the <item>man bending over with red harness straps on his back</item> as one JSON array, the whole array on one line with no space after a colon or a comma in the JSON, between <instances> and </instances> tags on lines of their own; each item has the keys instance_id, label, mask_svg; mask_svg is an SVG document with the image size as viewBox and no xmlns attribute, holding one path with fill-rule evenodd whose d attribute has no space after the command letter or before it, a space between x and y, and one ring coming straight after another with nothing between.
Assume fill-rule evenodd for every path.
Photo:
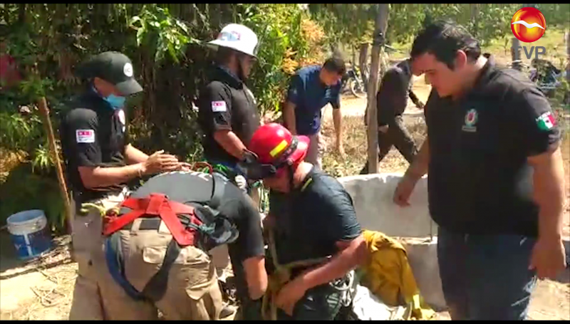
<instances>
[{"instance_id":1,"label":"man bending over with red harness straps on his back","mask_svg":"<svg viewBox=\"0 0 570 324\"><path fill-rule=\"evenodd\" d=\"M214 177L215 182L211 174L202 172L167 172L149 179L133 192L130 198L165 194L171 202L180 204L204 202L219 211L218 218L224 217L235 226L237 238L235 234L220 234L217 239L222 239L221 244L228 243L237 296L242 310L245 310L244 320L249 320L252 313L259 313L261 308L261 303L252 305L249 302L259 300L267 286L261 219L251 199L241 189L220 174L214 173ZM212 199L214 195L216 197ZM216 202L213 200L217 199L219 205L215 206ZM123 207L120 216L130 211L132 210ZM214 234L223 229L227 230L227 227L217 226L216 229L218 230ZM227 231L224 234L227 234ZM165 293L160 300L151 303L131 298L114 278L122 277L136 291L144 291L147 283L165 261L165 251L170 249L170 227L164 219L157 221L146 215L135 219L130 226L123 227L115 235L120 237L120 244L115 253L123 252L120 267L124 269L124 274L121 275L120 270L113 266L110 266L109 270L103 269L99 274L103 307L108 320L157 320L157 309L166 320L219 320L227 316L222 315L222 293L217 283L212 256L209 255L211 248L218 245L212 244L212 241L204 237L204 233L199 232L197 236L200 244L180 247L180 254L168 271L167 278L163 277L160 284L166 286ZM227 237L234 239L224 241ZM110 263L109 258L107 260ZM110 277L110 273L114 276Z\"/></svg>"}]
</instances>

